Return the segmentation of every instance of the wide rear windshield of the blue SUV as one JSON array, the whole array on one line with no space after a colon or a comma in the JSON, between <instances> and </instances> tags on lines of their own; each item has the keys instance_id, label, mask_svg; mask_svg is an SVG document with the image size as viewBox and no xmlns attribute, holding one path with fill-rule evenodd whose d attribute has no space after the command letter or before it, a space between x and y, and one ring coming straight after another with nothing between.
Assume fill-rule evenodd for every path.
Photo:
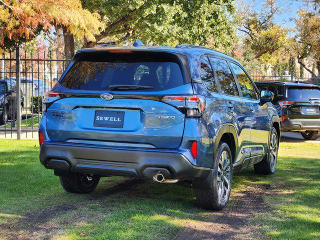
<instances>
[{"instance_id":1,"label":"wide rear windshield of the blue SUV","mask_svg":"<svg viewBox=\"0 0 320 240\"><path fill-rule=\"evenodd\" d=\"M143 91L166 90L184 84L178 62L168 58L105 58L76 61L60 83L80 90L110 90L109 85L152 87L141 89Z\"/></svg>"}]
</instances>

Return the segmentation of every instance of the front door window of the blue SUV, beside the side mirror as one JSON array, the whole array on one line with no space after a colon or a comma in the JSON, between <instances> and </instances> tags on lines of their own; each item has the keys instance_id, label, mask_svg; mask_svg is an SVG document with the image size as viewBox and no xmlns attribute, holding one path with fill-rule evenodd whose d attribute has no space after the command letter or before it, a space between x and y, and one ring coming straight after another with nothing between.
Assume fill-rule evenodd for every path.
<instances>
[{"instance_id":1,"label":"front door window of the blue SUV, beside the side mirror","mask_svg":"<svg viewBox=\"0 0 320 240\"><path fill-rule=\"evenodd\" d=\"M257 94L250 78L245 74L239 65L232 62L230 62L230 64L239 82L242 96L250 99L257 99Z\"/></svg>"}]
</instances>

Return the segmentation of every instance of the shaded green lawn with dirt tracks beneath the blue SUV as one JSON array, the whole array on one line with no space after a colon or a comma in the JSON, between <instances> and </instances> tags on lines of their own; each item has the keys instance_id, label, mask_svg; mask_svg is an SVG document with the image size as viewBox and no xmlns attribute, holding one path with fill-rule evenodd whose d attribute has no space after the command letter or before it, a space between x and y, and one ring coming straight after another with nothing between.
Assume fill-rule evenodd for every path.
<instances>
[{"instance_id":1,"label":"shaded green lawn with dirt tracks beneath the blue SUV","mask_svg":"<svg viewBox=\"0 0 320 240\"><path fill-rule=\"evenodd\" d=\"M107 177L90 194L70 194L40 165L36 147L2 152L1 239L241 239L251 234L260 238L256 226L283 236L303 227L307 232L316 229L315 220L305 217L316 213L318 206L312 204L319 201L314 179L320 178L320 162L310 158L280 157L271 176L256 175L252 167L235 173L227 207L209 211L195 205L193 189L148 180ZM292 202L299 209L290 207ZM282 213L282 218L274 218L272 209L293 217L288 220ZM283 219L291 221L286 229L281 228ZM295 220L302 225L295 225Z\"/></svg>"}]
</instances>

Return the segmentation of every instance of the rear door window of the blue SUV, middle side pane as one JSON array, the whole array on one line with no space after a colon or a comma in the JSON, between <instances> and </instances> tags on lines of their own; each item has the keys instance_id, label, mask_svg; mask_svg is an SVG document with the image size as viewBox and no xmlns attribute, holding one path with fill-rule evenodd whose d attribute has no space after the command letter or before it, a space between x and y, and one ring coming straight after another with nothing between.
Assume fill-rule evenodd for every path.
<instances>
[{"instance_id":1,"label":"rear door window of the blue SUV, middle side pane","mask_svg":"<svg viewBox=\"0 0 320 240\"><path fill-rule=\"evenodd\" d=\"M236 89L236 84L227 62L223 59L214 57L210 57L210 59L212 61L216 78L220 83L221 92L223 94L238 96L239 93Z\"/></svg>"}]
</instances>

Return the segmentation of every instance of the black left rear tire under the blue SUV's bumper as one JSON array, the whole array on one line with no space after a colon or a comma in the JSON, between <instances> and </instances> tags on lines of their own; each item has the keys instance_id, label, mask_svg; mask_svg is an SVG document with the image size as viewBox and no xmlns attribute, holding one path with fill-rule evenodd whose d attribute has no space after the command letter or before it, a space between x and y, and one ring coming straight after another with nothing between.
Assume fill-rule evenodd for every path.
<instances>
[{"instance_id":1,"label":"black left rear tire under the blue SUV's bumper","mask_svg":"<svg viewBox=\"0 0 320 240\"><path fill-rule=\"evenodd\" d=\"M94 174L70 173L69 176L59 176L64 190L71 193L89 193L99 183L100 177Z\"/></svg>"}]
</instances>

